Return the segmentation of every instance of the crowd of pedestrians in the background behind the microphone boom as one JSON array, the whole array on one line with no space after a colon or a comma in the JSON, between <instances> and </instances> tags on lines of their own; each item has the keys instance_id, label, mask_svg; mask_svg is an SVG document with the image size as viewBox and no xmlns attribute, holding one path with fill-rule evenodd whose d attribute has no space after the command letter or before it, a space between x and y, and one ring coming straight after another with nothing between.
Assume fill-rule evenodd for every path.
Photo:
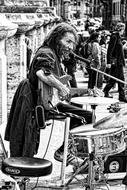
<instances>
[{"instance_id":1,"label":"crowd of pedestrians in the background behind the microphone boom","mask_svg":"<svg viewBox=\"0 0 127 190\"><path fill-rule=\"evenodd\" d=\"M78 30L78 26L80 27L81 25L80 22L77 23L77 25L73 23L70 24L77 29L79 36L75 53L90 61L90 64L88 64L85 63L85 61L76 60L73 56L66 61L66 71L72 76L71 86L77 87L74 73L78 65L83 71L84 77L88 77L88 95L94 96L97 94L110 98L112 96L109 91L111 88L116 87L116 83L118 82L119 100L127 102L124 93L125 79L123 71L123 67L126 64L125 59L127 58L127 41L124 37L125 24L117 23L110 31L106 30L101 25L101 22L100 25L98 24L96 27L94 26L95 24L91 25L89 20L87 20L84 30L82 29L80 31ZM119 50L120 54L118 53ZM120 58L118 58L118 55ZM116 60L115 64L114 60ZM113 80L108 75L116 79L118 78L118 81ZM120 83L119 79L122 80L123 83ZM104 87L105 83L107 86L105 85Z\"/></svg>"}]
</instances>

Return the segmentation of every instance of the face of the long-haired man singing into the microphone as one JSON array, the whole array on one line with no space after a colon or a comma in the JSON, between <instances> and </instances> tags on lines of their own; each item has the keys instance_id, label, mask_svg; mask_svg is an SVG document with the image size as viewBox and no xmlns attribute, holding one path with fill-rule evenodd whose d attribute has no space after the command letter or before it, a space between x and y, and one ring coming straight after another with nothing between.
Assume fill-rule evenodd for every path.
<instances>
[{"instance_id":1,"label":"face of the long-haired man singing into the microphone","mask_svg":"<svg viewBox=\"0 0 127 190\"><path fill-rule=\"evenodd\" d=\"M75 45L75 36L72 33L67 32L60 40L60 55L64 58L67 58L69 56L70 50L73 50Z\"/></svg>"}]
</instances>

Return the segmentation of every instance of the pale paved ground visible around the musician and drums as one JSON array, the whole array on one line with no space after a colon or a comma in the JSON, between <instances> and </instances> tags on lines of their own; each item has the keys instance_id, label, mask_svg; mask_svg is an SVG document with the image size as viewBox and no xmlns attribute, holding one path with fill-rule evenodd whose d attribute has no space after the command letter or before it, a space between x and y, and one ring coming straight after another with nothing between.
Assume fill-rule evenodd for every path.
<instances>
[{"instance_id":1,"label":"pale paved ground visible around the musician and drums","mask_svg":"<svg viewBox=\"0 0 127 190\"><path fill-rule=\"evenodd\" d=\"M82 71L78 70L76 73L76 78L78 81L78 87L87 87L87 78L83 77ZM117 87L116 87L117 88ZM113 89L114 90L114 89ZM118 98L117 93L113 93L114 98ZM110 115L109 111L107 110L107 107L109 105L102 105L97 106L96 108L96 121L100 120L101 118L104 118L105 116ZM126 104L121 104L122 108L126 107ZM86 106L85 108L91 110L90 106ZM41 143L39 147L39 152L37 157L43 158L46 154L45 158L52 161L53 163L53 171L50 176L39 178L39 185L41 186L40 189L62 189L59 188L61 184L60 180L60 174L61 174L61 163L56 161L54 159L54 152L55 150L61 145L63 141L63 135L64 135L64 122L61 121L55 121L53 126L47 126L45 130L41 131ZM50 142L49 142L50 139ZM49 143L49 146L48 146ZM48 149L47 149L48 146ZM68 166L66 167L66 182L71 178L73 167ZM80 190L85 189L84 187L84 176L86 175L77 175L76 178L72 181L72 183L69 184L69 186L66 189L74 189L74 190ZM114 173L114 174L107 174L106 177L110 179L108 183L110 184L111 190L123 190L125 189L125 186L121 184L122 178L125 176L125 173ZM31 182L33 183L33 186L35 185L36 179L32 178ZM48 186L46 188L46 186ZM50 187L49 187L50 186ZM39 189L39 188L38 188ZM64 189L64 188L63 188ZM102 186L95 186L95 189L109 189L108 186L102 185Z\"/></svg>"}]
</instances>

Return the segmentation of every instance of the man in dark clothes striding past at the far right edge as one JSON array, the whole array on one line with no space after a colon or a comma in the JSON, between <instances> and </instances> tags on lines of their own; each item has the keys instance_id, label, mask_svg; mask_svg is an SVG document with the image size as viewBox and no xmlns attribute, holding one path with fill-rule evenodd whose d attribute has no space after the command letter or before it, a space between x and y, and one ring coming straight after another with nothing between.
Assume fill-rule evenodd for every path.
<instances>
[{"instance_id":1,"label":"man in dark clothes striding past at the far right edge","mask_svg":"<svg viewBox=\"0 0 127 190\"><path fill-rule=\"evenodd\" d=\"M107 67L110 68L110 75L124 81L124 72L123 68L125 66L124 51L122 44L122 35L125 31L124 23L117 23L115 30L110 36L110 41L107 50ZM109 94L111 88L114 87L117 81L110 78L103 91L105 97L111 98ZM125 92L124 92L124 83L118 82L118 93L119 101L127 103Z\"/></svg>"}]
</instances>

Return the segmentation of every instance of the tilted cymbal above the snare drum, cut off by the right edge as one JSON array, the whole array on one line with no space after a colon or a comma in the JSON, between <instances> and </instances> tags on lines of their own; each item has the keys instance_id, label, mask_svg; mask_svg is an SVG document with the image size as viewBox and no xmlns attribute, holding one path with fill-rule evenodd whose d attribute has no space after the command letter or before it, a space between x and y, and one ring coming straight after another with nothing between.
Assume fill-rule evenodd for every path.
<instances>
[{"instance_id":1,"label":"tilted cymbal above the snare drum, cut off by the right edge","mask_svg":"<svg viewBox=\"0 0 127 190\"><path fill-rule=\"evenodd\" d=\"M104 117L103 119L97 121L93 128L96 129L109 129L109 128L119 128L127 125L127 109L122 109L117 113Z\"/></svg>"}]
</instances>

